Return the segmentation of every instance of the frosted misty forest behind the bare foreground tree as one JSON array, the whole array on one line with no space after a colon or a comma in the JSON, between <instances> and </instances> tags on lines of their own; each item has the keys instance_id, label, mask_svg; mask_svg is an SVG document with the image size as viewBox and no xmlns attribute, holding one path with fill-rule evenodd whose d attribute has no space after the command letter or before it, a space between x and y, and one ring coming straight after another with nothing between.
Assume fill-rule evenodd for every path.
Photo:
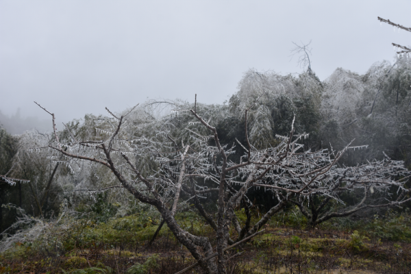
<instances>
[{"instance_id":1,"label":"frosted misty forest behind the bare foreground tree","mask_svg":"<svg viewBox=\"0 0 411 274\"><path fill-rule=\"evenodd\" d=\"M402 160L410 170L410 85L411 62L406 56L398 58L394 64L376 63L364 75L336 69L324 82L319 81L311 70L285 76L271 71L249 70L240 80L238 92L228 102L221 105L197 103L197 111L212 121L222 144L244 144L244 110L258 100L247 121L249 140L257 149L275 147L279 143L277 136L286 136L290 132L295 117L295 132L309 134L308 138L301 140L305 150L339 151L353 140L353 146L368 147L347 151L340 165L356 166L367 160L381 160L385 155L393 160ZM201 102L201 98L198 101ZM184 110L192 108L192 105L171 100L140 104L129 118L136 128L134 136L155 136L166 125L171 129L171 136L185 140L188 138L188 114L172 110ZM76 138L96 136L96 128L108 123L108 117L86 115L82 121L72 121L59 132L60 140L70 140L69 129L79 134ZM61 216L64 208L70 208L79 214L91 213L97 223L105 223L111 218L136 214L144 208L125 190L110 188L118 185L110 170L99 166L79 166L72 172L70 166L63 164L64 159L51 158L47 151L32 151L47 146L51 135L29 131L12 136L1 129L0 174L5 175L12 169L9 177L29 180L15 185L0 182L0 203L4 205L0 211L3 237L33 225L23 218L26 214L37 219L55 219ZM234 158L240 158L240 155L240 149L234 152ZM141 173L149 174L155 169L154 161L137 159L137 162L141 163ZM102 188L110 189L97 191ZM271 208L275 202L271 194L264 197L252 190L249 198L260 212ZM347 207L358 202L355 192L341 199ZM216 210L207 201L204 205L210 211ZM189 208L190 204L186 207ZM293 206L288 208L294 209ZM184 212L184 208L181 210ZM385 214L386 210L363 210L351 218L368 217L373 221L375 214ZM395 210L402 211L401 208Z\"/></svg>"}]
</instances>

